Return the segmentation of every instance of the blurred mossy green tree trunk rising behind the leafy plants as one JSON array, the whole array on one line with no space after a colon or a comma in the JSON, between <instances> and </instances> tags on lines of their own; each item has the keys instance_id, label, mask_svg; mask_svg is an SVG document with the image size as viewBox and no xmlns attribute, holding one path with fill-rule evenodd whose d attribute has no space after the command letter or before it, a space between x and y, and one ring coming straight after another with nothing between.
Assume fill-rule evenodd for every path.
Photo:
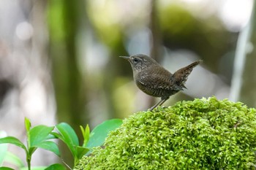
<instances>
[{"instance_id":1,"label":"blurred mossy green tree trunk rising behind the leafy plants","mask_svg":"<svg viewBox=\"0 0 256 170\"><path fill-rule=\"evenodd\" d=\"M59 11L58 11L59 9ZM56 15L56 11L59 13ZM50 1L50 55L53 61L53 82L57 118L75 129L80 142L79 125L88 123L86 115L86 83L78 67L77 37L86 20L84 1ZM51 15L51 13L53 13ZM61 18L56 17L61 16ZM83 17L83 18L82 18ZM55 23L59 22L59 23ZM72 167L72 155L67 147L61 149L64 161Z\"/></svg>"}]
</instances>

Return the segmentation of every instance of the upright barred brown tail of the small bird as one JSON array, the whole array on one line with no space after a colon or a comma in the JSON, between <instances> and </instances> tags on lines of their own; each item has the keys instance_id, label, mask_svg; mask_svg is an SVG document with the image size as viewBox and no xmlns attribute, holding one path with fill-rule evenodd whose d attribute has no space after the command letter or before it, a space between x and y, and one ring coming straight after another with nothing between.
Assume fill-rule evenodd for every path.
<instances>
[{"instance_id":1,"label":"upright barred brown tail of the small bird","mask_svg":"<svg viewBox=\"0 0 256 170\"><path fill-rule=\"evenodd\" d=\"M189 74L192 72L192 69L197 66L199 63L203 61L195 61L194 63L189 64L189 66L185 66L181 69L178 69L170 79L177 85L178 90L182 90L182 88L186 88L184 83L187 81Z\"/></svg>"}]
</instances>

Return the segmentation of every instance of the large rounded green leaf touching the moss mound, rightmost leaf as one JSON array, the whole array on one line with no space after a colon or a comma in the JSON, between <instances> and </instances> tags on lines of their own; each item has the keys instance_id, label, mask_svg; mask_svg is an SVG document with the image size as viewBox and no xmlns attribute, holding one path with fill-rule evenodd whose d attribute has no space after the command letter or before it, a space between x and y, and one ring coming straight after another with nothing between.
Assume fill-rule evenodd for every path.
<instances>
[{"instance_id":1,"label":"large rounded green leaf touching the moss mound, rightmost leaf","mask_svg":"<svg viewBox=\"0 0 256 170\"><path fill-rule=\"evenodd\" d=\"M89 142L86 147L98 147L104 144L106 137L110 131L115 130L123 123L121 119L106 120L105 122L97 125L94 130L91 131Z\"/></svg>"}]
</instances>

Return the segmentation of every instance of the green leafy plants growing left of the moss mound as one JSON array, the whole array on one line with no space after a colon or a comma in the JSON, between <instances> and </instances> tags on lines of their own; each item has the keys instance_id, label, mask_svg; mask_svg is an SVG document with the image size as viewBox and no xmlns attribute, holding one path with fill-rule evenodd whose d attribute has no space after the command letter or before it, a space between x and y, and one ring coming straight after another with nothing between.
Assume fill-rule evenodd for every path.
<instances>
[{"instance_id":1,"label":"green leafy plants growing left of the moss mound","mask_svg":"<svg viewBox=\"0 0 256 170\"><path fill-rule=\"evenodd\" d=\"M117 128L121 125L122 120L113 119L107 120L104 123L98 125L91 131L89 125L86 125L86 128L80 126L80 130L83 135L83 144L79 145L78 135L75 134L74 129L67 123L59 123L56 126L46 126L46 125L37 125L31 128L31 123L29 119L25 118L25 127L26 127L26 135L27 141L26 144L20 142L19 139L14 136L7 136L0 139L0 169L11 169L9 167L2 167L1 164L4 161L10 162L15 166L18 166L19 169L37 169L37 170L51 170L51 169L65 169L65 166L55 163L48 167L33 167L31 168L31 158L33 153L38 149L49 150L50 152L54 152L56 155L61 157L61 153L59 152L59 147L56 142L51 141L50 139L60 139L64 144L67 145L68 149L72 153L73 164L76 166L80 158L86 153L89 153L92 147L101 146L105 137L107 136L109 131ZM53 131L56 128L56 131ZM7 152L7 144L15 144L18 147L21 147L26 152L26 163L27 167L23 165L23 162L16 155L13 155L10 152ZM64 162L64 161L63 161ZM67 163L64 164L71 169ZM12 170L12 169L11 169Z\"/></svg>"}]
</instances>

